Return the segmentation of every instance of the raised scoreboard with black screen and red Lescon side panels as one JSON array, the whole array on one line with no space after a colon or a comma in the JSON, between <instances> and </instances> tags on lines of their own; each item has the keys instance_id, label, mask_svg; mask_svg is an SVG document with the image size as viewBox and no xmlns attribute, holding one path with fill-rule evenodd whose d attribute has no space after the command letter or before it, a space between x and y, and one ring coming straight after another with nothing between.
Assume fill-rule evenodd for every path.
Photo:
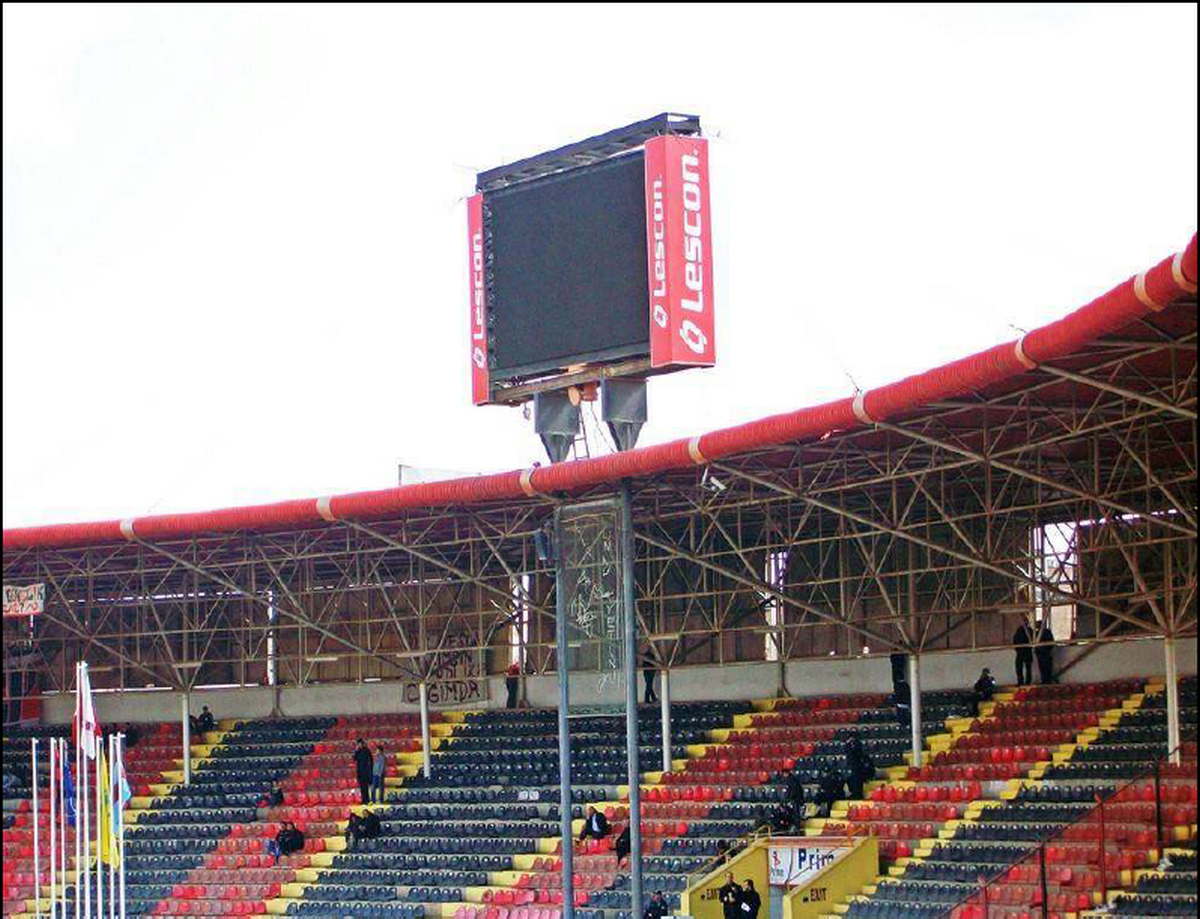
<instances>
[{"instance_id":1,"label":"raised scoreboard with black screen and red Lescon side panels","mask_svg":"<svg viewBox=\"0 0 1200 919\"><path fill-rule=\"evenodd\" d=\"M475 404L716 360L708 145L662 114L480 173L468 200Z\"/></svg>"}]
</instances>

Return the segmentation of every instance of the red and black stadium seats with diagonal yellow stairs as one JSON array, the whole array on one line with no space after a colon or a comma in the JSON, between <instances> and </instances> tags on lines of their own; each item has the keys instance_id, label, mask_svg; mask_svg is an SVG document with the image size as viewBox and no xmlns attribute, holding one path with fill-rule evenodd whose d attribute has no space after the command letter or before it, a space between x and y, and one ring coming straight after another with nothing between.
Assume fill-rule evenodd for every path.
<instances>
[{"instance_id":1,"label":"red and black stadium seats with diagonal yellow stairs","mask_svg":"<svg viewBox=\"0 0 1200 919\"><path fill-rule=\"evenodd\" d=\"M878 836L887 875L836 912L984 919L971 913L971 896L986 878L989 915L1033 914L1040 885L1028 853L1046 837L1048 906L1062 915L1093 908L1103 900L1099 837L1081 817L1108 794L1103 870L1112 912L1183 914L1180 890L1194 883L1194 854L1188 863L1170 848L1159 865L1153 788L1147 801L1145 781L1128 781L1165 753L1160 685L1144 689L1009 690L978 716L966 693L926 693L922 767L910 764L908 728L878 693L674 704L674 762L662 774L659 713L643 707L640 757L654 767L642 774L646 890L665 891L677 907L690 872L770 815L788 769L814 780L844 769L845 741L858 737L883 780L866 786L864 800L809 821L808 831ZM1162 781L1172 846L1195 837L1194 679L1183 681L1182 698L1187 764ZM613 824L610 837L576 847L576 912L630 919L629 875L612 852L630 817L624 721L586 715L571 728L575 830L587 804ZM386 800L371 805L382 833L350 852L343 834L359 807L350 750L360 735L382 741L391 765ZM413 715L226 721L193 738L192 783L182 786L178 726L144 731L130 752L128 914L560 919L557 714L443 713L433 735L425 776ZM283 805L259 806L276 781ZM20 854L28 827L16 825L18 807L6 805L6 816L5 915L19 915L34 883ZM276 861L265 848L282 821L295 822L307 842ZM1188 902L1194 913L1194 897Z\"/></svg>"}]
</instances>

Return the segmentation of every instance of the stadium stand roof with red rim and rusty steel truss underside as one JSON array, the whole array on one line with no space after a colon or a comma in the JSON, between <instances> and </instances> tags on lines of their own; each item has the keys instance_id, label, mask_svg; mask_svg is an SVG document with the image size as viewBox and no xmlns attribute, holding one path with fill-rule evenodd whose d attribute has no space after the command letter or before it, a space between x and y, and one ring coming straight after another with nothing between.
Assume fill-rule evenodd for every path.
<instances>
[{"instance_id":1,"label":"stadium stand roof with red rim and rusty steel truss underside","mask_svg":"<svg viewBox=\"0 0 1200 919\"><path fill-rule=\"evenodd\" d=\"M632 489L638 617L672 666L1196 629L1196 242L1020 341L613 456L258 507L5 530L47 687L553 668L563 503ZM6 620L6 649L30 636ZM1066 637L1066 636L1060 636Z\"/></svg>"}]
</instances>

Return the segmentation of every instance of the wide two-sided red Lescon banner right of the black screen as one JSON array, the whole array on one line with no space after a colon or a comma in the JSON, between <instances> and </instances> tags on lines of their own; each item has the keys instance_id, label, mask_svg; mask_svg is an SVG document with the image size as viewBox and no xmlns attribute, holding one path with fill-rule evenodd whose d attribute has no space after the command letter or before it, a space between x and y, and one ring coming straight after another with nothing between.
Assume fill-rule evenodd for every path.
<instances>
[{"instance_id":1,"label":"wide two-sided red Lescon banner right of the black screen","mask_svg":"<svg viewBox=\"0 0 1200 919\"><path fill-rule=\"evenodd\" d=\"M646 244L650 365L716 362L708 142L665 134L646 142Z\"/></svg>"}]
</instances>

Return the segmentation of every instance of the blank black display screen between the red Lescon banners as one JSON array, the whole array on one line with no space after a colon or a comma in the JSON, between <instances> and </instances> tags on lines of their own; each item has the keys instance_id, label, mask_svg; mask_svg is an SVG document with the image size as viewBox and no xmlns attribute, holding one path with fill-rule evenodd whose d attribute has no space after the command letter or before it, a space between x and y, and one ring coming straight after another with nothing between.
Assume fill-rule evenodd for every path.
<instances>
[{"instance_id":1,"label":"blank black display screen between the red Lescon banners","mask_svg":"<svg viewBox=\"0 0 1200 919\"><path fill-rule=\"evenodd\" d=\"M649 353L643 161L485 192L492 379Z\"/></svg>"}]
</instances>

